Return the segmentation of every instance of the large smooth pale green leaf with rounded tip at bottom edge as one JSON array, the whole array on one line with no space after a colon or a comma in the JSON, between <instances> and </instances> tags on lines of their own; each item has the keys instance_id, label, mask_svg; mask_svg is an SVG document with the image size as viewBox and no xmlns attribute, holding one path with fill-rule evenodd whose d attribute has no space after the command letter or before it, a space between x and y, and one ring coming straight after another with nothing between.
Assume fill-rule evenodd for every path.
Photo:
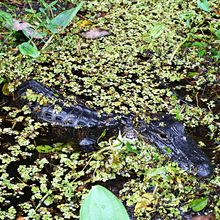
<instances>
[{"instance_id":1,"label":"large smooth pale green leaf with rounded tip at bottom edge","mask_svg":"<svg viewBox=\"0 0 220 220\"><path fill-rule=\"evenodd\" d=\"M80 208L80 220L129 220L122 202L105 187L93 186Z\"/></svg>"}]
</instances>

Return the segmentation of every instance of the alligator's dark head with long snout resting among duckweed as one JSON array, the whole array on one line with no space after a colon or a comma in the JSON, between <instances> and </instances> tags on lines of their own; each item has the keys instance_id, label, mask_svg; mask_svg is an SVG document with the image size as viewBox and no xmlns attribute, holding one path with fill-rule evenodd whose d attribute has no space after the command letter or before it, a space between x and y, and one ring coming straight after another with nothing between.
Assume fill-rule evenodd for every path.
<instances>
[{"instance_id":1,"label":"alligator's dark head with long snout resting among duckweed","mask_svg":"<svg viewBox=\"0 0 220 220\"><path fill-rule=\"evenodd\" d=\"M149 124L141 121L137 130L144 139L168 154L187 172L196 171L199 177L208 177L212 174L213 167L208 157L186 133L182 123L164 117Z\"/></svg>"}]
</instances>

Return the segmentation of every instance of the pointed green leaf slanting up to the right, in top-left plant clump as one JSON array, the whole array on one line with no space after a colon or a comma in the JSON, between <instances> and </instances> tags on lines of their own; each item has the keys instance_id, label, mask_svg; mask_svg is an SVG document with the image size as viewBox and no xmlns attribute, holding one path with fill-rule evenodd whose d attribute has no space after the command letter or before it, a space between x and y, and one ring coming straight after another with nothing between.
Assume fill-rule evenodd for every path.
<instances>
[{"instance_id":1,"label":"pointed green leaf slanting up to the right, in top-left plant clump","mask_svg":"<svg viewBox=\"0 0 220 220\"><path fill-rule=\"evenodd\" d=\"M61 29L64 29L70 24L72 19L76 16L77 12L81 9L82 5L83 2L79 3L75 8L61 12L51 20L51 24ZM58 32L58 28L57 28L57 32Z\"/></svg>"}]
</instances>

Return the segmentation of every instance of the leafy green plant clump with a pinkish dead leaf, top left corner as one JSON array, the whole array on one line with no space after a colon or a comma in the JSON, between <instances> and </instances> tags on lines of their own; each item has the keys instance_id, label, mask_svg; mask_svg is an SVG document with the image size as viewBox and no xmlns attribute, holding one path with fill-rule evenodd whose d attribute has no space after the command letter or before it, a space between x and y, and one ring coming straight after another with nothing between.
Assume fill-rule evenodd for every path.
<instances>
[{"instance_id":1,"label":"leafy green plant clump with a pinkish dead leaf, top left corner","mask_svg":"<svg viewBox=\"0 0 220 220\"><path fill-rule=\"evenodd\" d=\"M8 36L6 38L10 38L10 36L13 34L15 35L17 31L22 31L24 36L28 38L28 41L19 44L17 47L22 55L30 56L32 58L37 58L40 56L40 52L34 43L34 39L41 39L43 41L43 38L46 39L46 37L48 37L48 32L52 33L52 35L50 35L49 39L42 47L42 49L45 49L49 42L52 40L54 34L62 32L70 24L70 22L73 20L83 5L83 2L81 2L75 8L65 10L54 16L53 11L56 11L55 6L57 1L53 1L50 4L47 4L42 0L40 3L43 5L43 8L40 8L39 12L36 13L37 16L35 19L38 22L35 26L27 23L26 21L13 19L12 15L8 12L0 11L0 21L2 21L3 28L9 29ZM35 11L31 9L26 10L26 12L35 13ZM40 28L43 28L43 31L41 31Z\"/></svg>"}]
</instances>

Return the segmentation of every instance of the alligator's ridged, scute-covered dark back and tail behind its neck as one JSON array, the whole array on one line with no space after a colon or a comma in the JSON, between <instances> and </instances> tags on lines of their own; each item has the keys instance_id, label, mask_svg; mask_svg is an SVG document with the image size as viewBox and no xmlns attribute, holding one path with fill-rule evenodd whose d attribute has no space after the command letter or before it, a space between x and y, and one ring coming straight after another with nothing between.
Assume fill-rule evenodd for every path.
<instances>
[{"instance_id":1,"label":"alligator's ridged, scute-covered dark back and tail behind its neck","mask_svg":"<svg viewBox=\"0 0 220 220\"><path fill-rule=\"evenodd\" d=\"M54 99L55 104L47 104L46 106L41 106L37 102L28 102L23 98L27 90L31 89L37 94L41 94L49 99ZM24 82L16 92L16 99L18 105L23 105L28 103L33 116L37 119L45 122L49 122L55 125L63 127L106 127L114 126L118 122L112 118L112 116L98 115L97 111L86 107L80 100L77 105L71 107L65 107L62 101L59 101L59 97L56 95L56 91L45 87L35 80L28 80ZM61 111L56 111L55 105L62 108Z\"/></svg>"}]
</instances>

